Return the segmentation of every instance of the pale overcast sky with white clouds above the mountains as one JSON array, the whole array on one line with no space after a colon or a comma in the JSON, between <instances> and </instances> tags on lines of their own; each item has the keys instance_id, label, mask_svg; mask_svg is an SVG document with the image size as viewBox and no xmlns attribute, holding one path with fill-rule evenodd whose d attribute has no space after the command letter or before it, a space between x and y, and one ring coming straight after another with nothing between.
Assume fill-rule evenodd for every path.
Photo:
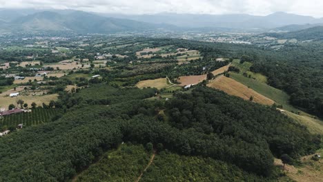
<instances>
[{"instance_id":1,"label":"pale overcast sky with white clouds above the mountains","mask_svg":"<svg viewBox=\"0 0 323 182\"><path fill-rule=\"evenodd\" d=\"M124 14L266 15L283 11L323 17L322 0L0 0L0 8L55 8Z\"/></svg>"}]
</instances>

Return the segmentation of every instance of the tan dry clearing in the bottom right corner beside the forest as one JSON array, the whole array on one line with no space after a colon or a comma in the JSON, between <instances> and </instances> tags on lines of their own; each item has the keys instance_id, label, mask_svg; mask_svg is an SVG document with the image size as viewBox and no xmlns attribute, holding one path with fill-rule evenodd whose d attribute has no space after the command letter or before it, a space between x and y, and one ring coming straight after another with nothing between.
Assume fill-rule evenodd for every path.
<instances>
[{"instance_id":1,"label":"tan dry clearing in the bottom right corner beside the forest","mask_svg":"<svg viewBox=\"0 0 323 182\"><path fill-rule=\"evenodd\" d=\"M318 150L316 154L320 154L322 156L323 150ZM302 182L321 182L323 179L323 161L313 161L311 157L313 156L303 156L301 158L302 166L295 167L293 165L286 164L283 167L282 160L275 159L275 165L280 166L286 175L295 181Z\"/></svg>"}]
</instances>

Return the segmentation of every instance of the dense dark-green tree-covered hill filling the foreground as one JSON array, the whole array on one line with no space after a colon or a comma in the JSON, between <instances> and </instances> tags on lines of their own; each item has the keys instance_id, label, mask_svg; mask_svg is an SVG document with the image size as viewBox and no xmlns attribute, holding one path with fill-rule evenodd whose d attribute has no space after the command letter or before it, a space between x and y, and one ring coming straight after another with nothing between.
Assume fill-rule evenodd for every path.
<instances>
[{"instance_id":1,"label":"dense dark-green tree-covered hill filling the foreground","mask_svg":"<svg viewBox=\"0 0 323 182\"><path fill-rule=\"evenodd\" d=\"M0 139L0 181L68 181L122 141L162 144L275 181L274 156L297 159L320 144L275 108L203 85L169 101L145 99L155 92L101 83L61 94L61 119Z\"/></svg>"}]
</instances>

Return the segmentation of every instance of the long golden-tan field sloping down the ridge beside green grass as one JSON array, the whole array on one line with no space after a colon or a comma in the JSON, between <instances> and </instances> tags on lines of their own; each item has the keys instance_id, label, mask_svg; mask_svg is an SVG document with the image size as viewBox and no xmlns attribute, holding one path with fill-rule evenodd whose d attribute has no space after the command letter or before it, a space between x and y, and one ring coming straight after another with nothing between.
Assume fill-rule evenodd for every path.
<instances>
[{"instance_id":1,"label":"long golden-tan field sloping down the ridge beside green grass","mask_svg":"<svg viewBox=\"0 0 323 182\"><path fill-rule=\"evenodd\" d=\"M273 100L264 97L262 94L255 92L246 85L224 76L219 76L211 81L211 83L208 83L208 87L222 90L227 94L240 97L244 100L249 100L252 96L254 102L264 105L273 105L273 103L275 103Z\"/></svg>"}]
</instances>

